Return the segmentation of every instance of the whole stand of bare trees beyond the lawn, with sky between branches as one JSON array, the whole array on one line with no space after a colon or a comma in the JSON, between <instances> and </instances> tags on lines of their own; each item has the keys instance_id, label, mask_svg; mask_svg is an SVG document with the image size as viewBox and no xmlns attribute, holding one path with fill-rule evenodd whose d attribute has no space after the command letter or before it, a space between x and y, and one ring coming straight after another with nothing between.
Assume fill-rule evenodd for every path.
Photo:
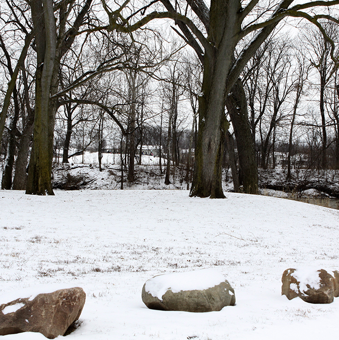
<instances>
[{"instance_id":1,"label":"whole stand of bare trees beyond the lawn, with sky between branches","mask_svg":"<svg viewBox=\"0 0 339 340\"><path fill-rule=\"evenodd\" d=\"M225 162L253 194L258 167L338 169L339 0L293 2L6 0L2 189L53 195L53 159L90 149L133 182L145 145L190 196L224 197Z\"/></svg>"}]
</instances>

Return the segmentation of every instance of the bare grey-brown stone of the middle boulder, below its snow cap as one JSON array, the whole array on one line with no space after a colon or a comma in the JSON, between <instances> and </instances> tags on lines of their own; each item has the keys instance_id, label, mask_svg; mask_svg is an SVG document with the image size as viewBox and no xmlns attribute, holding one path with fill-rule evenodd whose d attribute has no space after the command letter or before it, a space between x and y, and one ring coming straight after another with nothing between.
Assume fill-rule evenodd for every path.
<instances>
[{"instance_id":1,"label":"bare grey-brown stone of the middle boulder, below its snow cap","mask_svg":"<svg viewBox=\"0 0 339 340\"><path fill-rule=\"evenodd\" d=\"M152 280L156 280L159 276L165 278L166 275L154 276L146 281L143 286L142 299L150 309L207 312L218 311L225 306L233 306L235 304L234 290L224 278L222 282L207 289L176 291L168 288L160 297L154 296L158 294L150 292L147 288L152 283Z\"/></svg>"}]
</instances>

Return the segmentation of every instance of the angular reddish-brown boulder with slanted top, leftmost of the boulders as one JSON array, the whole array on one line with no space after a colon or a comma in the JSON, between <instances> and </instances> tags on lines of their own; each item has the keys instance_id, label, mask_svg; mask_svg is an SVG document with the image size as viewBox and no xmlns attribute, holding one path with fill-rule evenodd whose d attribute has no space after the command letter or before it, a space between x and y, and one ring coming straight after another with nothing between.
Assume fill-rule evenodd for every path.
<instances>
[{"instance_id":1,"label":"angular reddish-brown boulder with slanted top, leftmost of the boulders","mask_svg":"<svg viewBox=\"0 0 339 340\"><path fill-rule=\"evenodd\" d=\"M39 332L49 339L64 335L79 319L86 294L79 287L0 305L0 335Z\"/></svg>"}]
</instances>

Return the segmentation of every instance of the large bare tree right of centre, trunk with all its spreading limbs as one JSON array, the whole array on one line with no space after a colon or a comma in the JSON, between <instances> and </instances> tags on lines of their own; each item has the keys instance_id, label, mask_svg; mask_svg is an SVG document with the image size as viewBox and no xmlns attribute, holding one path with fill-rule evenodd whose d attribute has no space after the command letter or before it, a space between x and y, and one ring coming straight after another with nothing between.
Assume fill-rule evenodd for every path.
<instances>
[{"instance_id":1,"label":"large bare tree right of centre, trunk with all its spreading limbs","mask_svg":"<svg viewBox=\"0 0 339 340\"><path fill-rule=\"evenodd\" d=\"M175 8L169 0L162 1L167 12L154 11L128 26L124 23L120 24L119 21L128 2L118 11L110 10L104 0L102 2L109 16L110 29L128 32L137 30L155 18L173 18L187 43L203 58L204 77L199 102L199 134L195 148L195 170L190 195L216 198L224 197L220 162L222 134L227 127L224 123L224 98L237 83L244 66L283 18L288 16L306 18L322 30L319 19L337 20L327 14L313 15L307 10L324 6L328 8L338 4L337 1L321 1L292 6L293 0L285 0L267 6L258 0L253 0L242 7L238 0L217 0L211 2L211 7L208 9L203 1L188 1L192 12L203 23L206 37L204 31L199 30L192 20L181 14L188 13L187 10L177 3ZM141 12L144 14L144 10L148 9L149 7L146 6ZM135 14L139 13L140 10L135 12ZM254 32L258 33L242 48L238 57L235 57L238 43Z\"/></svg>"}]
</instances>

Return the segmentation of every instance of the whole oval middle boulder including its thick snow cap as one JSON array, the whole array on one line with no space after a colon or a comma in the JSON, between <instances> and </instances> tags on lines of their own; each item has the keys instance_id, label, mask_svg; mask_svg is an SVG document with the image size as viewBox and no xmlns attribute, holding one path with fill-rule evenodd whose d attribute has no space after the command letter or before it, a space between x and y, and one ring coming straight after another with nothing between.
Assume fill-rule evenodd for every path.
<instances>
[{"instance_id":1,"label":"whole oval middle boulder including its thick snow cap","mask_svg":"<svg viewBox=\"0 0 339 340\"><path fill-rule=\"evenodd\" d=\"M142 299L150 309L191 312L218 311L235 304L230 283L212 269L154 276L144 284Z\"/></svg>"}]
</instances>

